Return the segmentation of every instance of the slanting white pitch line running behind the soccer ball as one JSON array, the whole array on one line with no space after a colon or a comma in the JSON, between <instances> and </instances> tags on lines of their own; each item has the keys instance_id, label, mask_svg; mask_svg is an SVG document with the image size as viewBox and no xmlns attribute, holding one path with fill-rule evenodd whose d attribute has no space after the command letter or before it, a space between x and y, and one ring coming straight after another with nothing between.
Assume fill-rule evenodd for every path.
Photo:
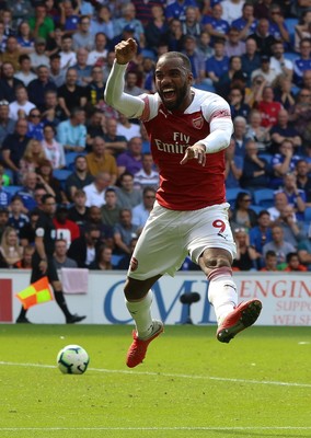
<instances>
[{"instance_id":1,"label":"slanting white pitch line running behind the soccer ball","mask_svg":"<svg viewBox=\"0 0 311 438\"><path fill-rule=\"evenodd\" d=\"M19 364L19 362L7 362L0 361L0 365L12 366L12 367L37 367L37 368L56 368L54 365L43 364ZM152 371L129 371L129 370L111 370L105 368L88 368L90 371L106 372L116 374L134 374L134 376L158 376L158 377L173 377L175 379L193 379L193 380L216 380L220 382L232 382L232 383L250 383L250 384L270 384L278 387L296 387L296 388L311 388L311 383L296 383L296 382L278 382L273 380L247 380L247 379L230 379L222 377L212 376L195 376L195 374L177 374L170 372L152 372Z\"/></svg>"}]
</instances>

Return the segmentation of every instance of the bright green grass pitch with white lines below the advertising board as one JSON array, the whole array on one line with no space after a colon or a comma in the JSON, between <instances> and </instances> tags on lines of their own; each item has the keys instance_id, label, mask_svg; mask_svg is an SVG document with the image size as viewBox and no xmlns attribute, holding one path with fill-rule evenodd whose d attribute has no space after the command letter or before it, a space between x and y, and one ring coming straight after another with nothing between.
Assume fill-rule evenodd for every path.
<instances>
[{"instance_id":1,"label":"bright green grass pitch with white lines below the advertising board","mask_svg":"<svg viewBox=\"0 0 311 438\"><path fill-rule=\"evenodd\" d=\"M1 438L311 437L311 327L260 327L229 345L168 326L129 370L130 326L0 325ZM61 374L68 344L90 354Z\"/></svg>"}]
</instances>

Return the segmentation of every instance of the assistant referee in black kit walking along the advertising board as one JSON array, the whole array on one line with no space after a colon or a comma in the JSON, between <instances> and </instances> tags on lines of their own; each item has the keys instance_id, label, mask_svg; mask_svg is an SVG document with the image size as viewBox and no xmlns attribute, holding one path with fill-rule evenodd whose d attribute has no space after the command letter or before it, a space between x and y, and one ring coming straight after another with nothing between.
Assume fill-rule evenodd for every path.
<instances>
[{"instance_id":1,"label":"assistant referee in black kit walking along the advertising board","mask_svg":"<svg viewBox=\"0 0 311 438\"><path fill-rule=\"evenodd\" d=\"M47 276L54 289L54 296L57 304L65 314L66 323L73 324L84 320L85 316L79 316L69 312L62 293L62 286L58 279L56 266L54 264L54 250L56 241L56 229L53 223L53 217L56 210L55 197L53 195L44 195L42 197L43 211L36 223L35 252L32 260L32 277L31 284ZM21 309L16 323L28 323L26 310Z\"/></svg>"}]
</instances>

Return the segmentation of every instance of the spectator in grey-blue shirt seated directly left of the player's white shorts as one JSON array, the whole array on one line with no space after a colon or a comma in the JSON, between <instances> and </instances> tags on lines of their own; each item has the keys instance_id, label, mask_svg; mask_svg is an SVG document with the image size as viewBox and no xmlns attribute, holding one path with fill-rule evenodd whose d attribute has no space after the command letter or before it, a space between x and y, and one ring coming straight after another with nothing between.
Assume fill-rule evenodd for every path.
<instances>
[{"instance_id":1,"label":"spectator in grey-blue shirt seated directly left of the player's white shorts","mask_svg":"<svg viewBox=\"0 0 311 438\"><path fill-rule=\"evenodd\" d=\"M115 254L130 254L131 239L138 237L139 227L133 223L131 210L123 208L119 215L119 222L114 227Z\"/></svg>"}]
</instances>

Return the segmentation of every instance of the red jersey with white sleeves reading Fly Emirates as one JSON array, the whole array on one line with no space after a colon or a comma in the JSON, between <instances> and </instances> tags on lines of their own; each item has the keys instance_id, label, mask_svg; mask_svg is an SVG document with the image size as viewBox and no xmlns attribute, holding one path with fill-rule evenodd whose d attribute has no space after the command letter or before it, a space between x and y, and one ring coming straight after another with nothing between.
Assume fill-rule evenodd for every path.
<instances>
[{"instance_id":1,"label":"red jersey with white sleeves reading Fly Emirates","mask_svg":"<svg viewBox=\"0 0 311 438\"><path fill-rule=\"evenodd\" d=\"M204 168L197 160L180 164L186 148L209 135L214 117L230 116L229 105L222 97L196 89L192 91L193 102L184 113L168 111L158 93L141 96L145 110L140 118L160 171L157 199L163 207L174 210L196 210L226 201L223 150L207 154Z\"/></svg>"}]
</instances>

